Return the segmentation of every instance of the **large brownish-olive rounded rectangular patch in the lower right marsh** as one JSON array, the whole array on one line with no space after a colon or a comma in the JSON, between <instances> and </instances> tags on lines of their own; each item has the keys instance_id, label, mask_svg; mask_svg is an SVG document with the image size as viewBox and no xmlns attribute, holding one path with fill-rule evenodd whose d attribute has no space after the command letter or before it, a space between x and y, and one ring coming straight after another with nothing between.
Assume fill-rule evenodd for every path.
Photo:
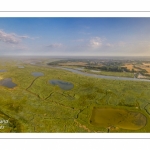
<instances>
[{"instance_id":1,"label":"large brownish-olive rounded rectangular patch in the lower right marsh","mask_svg":"<svg viewBox=\"0 0 150 150\"><path fill-rule=\"evenodd\" d=\"M91 124L105 128L122 128L138 130L146 125L145 115L138 111L94 107L90 120Z\"/></svg>"}]
</instances>

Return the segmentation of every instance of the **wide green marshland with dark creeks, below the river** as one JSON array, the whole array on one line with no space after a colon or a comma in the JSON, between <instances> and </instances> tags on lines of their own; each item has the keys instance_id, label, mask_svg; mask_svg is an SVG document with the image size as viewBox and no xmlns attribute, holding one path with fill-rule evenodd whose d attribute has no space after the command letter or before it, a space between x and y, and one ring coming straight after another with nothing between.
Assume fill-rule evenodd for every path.
<instances>
[{"instance_id":1,"label":"wide green marshland with dark creeks, below the river","mask_svg":"<svg viewBox=\"0 0 150 150\"><path fill-rule=\"evenodd\" d=\"M14 61L0 65L0 69L7 70L0 72L1 79L12 78L17 84L13 89L0 86L0 132L108 132L109 125L91 123L95 107L125 109L146 118L142 127L134 129L111 121L114 128L109 132L150 132L149 82L98 79L50 67L21 65L24 68L18 68ZM34 77L32 72L44 76ZM62 90L49 84L52 79L70 82L74 88Z\"/></svg>"}]
</instances>

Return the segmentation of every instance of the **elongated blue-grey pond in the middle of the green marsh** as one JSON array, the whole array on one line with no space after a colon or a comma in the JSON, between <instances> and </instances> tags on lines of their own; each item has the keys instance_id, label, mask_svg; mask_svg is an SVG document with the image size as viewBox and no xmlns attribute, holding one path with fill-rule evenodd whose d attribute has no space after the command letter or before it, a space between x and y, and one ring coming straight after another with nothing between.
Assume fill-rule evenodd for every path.
<instances>
[{"instance_id":1,"label":"elongated blue-grey pond in the middle of the green marsh","mask_svg":"<svg viewBox=\"0 0 150 150\"><path fill-rule=\"evenodd\" d=\"M50 80L49 83L52 85L58 85L62 90L71 90L74 86L72 83L62 80Z\"/></svg>"}]
</instances>

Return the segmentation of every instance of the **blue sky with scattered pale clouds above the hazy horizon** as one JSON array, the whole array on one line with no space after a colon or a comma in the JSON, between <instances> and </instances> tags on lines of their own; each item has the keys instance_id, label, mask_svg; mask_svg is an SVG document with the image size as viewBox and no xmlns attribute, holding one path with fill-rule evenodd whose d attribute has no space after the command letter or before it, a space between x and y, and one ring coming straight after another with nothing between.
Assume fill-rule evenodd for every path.
<instances>
[{"instance_id":1,"label":"blue sky with scattered pale clouds above the hazy horizon","mask_svg":"<svg viewBox=\"0 0 150 150\"><path fill-rule=\"evenodd\" d=\"M150 56L150 18L0 18L0 56Z\"/></svg>"}]
</instances>

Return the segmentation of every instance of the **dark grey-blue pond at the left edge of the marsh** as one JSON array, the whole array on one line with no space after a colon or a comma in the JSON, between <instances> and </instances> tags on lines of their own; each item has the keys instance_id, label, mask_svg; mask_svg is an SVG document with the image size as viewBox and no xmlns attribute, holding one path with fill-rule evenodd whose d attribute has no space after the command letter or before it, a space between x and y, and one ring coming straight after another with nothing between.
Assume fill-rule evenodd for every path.
<instances>
[{"instance_id":1,"label":"dark grey-blue pond at the left edge of the marsh","mask_svg":"<svg viewBox=\"0 0 150 150\"><path fill-rule=\"evenodd\" d=\"M12 82L11 78L0 80L0 85L5 86L7 88L14 88L15 86L17 86L17 84Z\"/></svg>"}]
</instances>

